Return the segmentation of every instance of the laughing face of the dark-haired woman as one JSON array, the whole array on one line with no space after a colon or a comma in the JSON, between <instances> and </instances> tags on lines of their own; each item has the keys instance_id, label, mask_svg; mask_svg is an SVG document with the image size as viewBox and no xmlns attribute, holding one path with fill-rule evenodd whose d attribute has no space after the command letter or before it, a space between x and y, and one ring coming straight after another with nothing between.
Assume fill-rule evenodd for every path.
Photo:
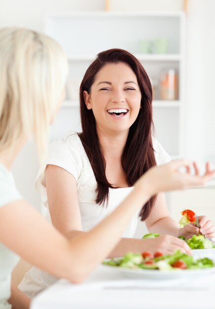
<instances>
[{"instance_id":1,"label":"laughing face of the dark-haired woman","mask_svg":"<svg viewBox=\"0 0 215 309\"><path fill-rule=\"evenodd\" d=\"M109 63L96 75L90 93L84 91L87 109L92 109L97 130L129 131L141 108L137 77L125 63Z\"/></svg>"}]
</instances>

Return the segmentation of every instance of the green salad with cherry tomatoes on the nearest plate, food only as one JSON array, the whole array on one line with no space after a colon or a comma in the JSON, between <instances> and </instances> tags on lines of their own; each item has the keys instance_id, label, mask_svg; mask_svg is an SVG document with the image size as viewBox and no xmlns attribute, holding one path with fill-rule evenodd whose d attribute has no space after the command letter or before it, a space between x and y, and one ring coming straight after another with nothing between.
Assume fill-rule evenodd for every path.
<instances>
[{"instance_id":1,"label":"green salad with cherry tomatoes on the nearest plate, food only","mask_svg":"<svg viewBox=\"0 0 215 309\"><path fill-rule=\"evenodd\" d=\"M212 260L208 258L194 259L192 256L176 250L174 254L162 255L161 253L150 252L127 253L121 258L112 258L103 262L104 265L123 267L129 269L147 270L185 270L203 269L214 267Z\"/></svg>"}]
</instances>

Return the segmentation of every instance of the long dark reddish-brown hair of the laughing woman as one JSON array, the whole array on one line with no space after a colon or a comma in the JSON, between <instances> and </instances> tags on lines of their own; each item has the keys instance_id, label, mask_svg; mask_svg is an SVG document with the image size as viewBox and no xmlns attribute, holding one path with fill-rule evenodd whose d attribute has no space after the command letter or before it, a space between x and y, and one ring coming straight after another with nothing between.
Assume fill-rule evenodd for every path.
<instances>
[{"instance_id":1,"label":"long dark reddish-brown hair of the laughing woman","mask_svg":"<svg viewBox=\"0 0 215 309\"><path fill-rule=\"evenodd\" d=\"M128 138L121 157L122 168L126 174L126 181L131 187L151 166L156 165L152 146L151 133L154 130L152 121L152 88L150 80L140 61L128 51L123 49L109 49L100 52L93 63L87 69L80 85L80 116L82 133L79 135L85 152L90 160L97 181L98 204L108 203L108 188L113 188L106 178L106 161L101 151L96 121L92 110L85 105L83 92L91 91L97 73L109 63L123 62L135 73L141 89L141 109L137 119L129 129ZM150 214L155 203L156 196L142 207L141 220L144 221ZM132 207L132 205L131 205Z\"/></svg>"}]
</instances>

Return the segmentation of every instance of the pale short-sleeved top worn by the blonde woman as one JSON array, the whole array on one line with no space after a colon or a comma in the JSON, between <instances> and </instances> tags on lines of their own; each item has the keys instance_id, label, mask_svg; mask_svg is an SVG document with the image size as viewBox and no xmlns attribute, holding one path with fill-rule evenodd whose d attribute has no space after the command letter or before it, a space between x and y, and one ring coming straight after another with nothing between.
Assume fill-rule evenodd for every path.
<instances>
[{"instance_id":1,"label":"pale short-sleeved top worn by the blonde woman","mask_svg":"<svg viewBox=\"0 0 215 309\"><path fill-rule=\"evenodd\" d=\"M0 208L12 201L22 199L15 186L11 172L0 164ZM10 223L8 222L8 225ZM10 309L11 272L19 256L0 242L0 309Z\"/></svg>"}]
</instances>

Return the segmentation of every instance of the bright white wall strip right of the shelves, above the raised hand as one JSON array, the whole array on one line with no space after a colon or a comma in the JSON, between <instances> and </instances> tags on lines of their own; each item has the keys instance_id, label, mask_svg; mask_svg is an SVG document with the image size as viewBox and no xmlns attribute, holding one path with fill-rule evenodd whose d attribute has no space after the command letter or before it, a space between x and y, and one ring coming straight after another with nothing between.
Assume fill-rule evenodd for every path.
<instances>
[{"instance_id":1,"label":"bright white wall strip right of the shelves, above the raised hand","mask_svg":"<svg viewBox=\"0 0 215 309\"><path fill-rule=\"evenodd\" d=\"M186 151L215 164L215 1L190 0L187 18Z\"/></svg>"}]
</instances>

